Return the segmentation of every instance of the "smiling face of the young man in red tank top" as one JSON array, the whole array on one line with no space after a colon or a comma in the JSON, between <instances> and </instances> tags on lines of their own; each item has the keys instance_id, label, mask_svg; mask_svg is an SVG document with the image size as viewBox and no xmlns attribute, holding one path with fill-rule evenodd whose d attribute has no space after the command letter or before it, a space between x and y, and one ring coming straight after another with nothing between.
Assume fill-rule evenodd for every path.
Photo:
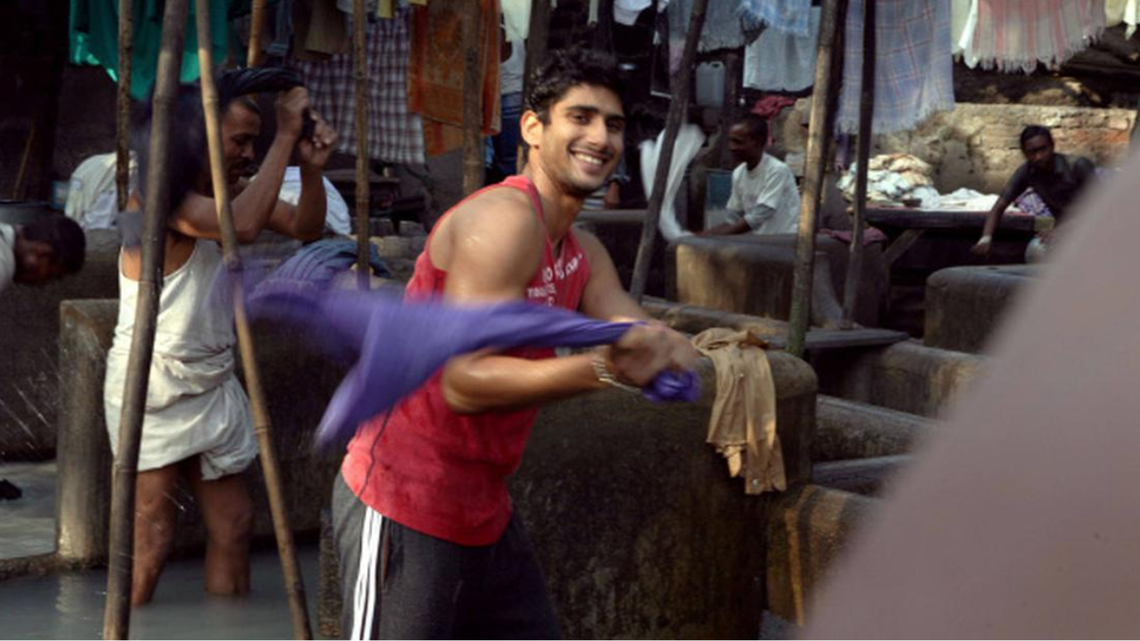
<instances>
[{"instance_id":1,"label":"smiling face of the young man in red tank top","mask_svg":"<svg viewBox=\"0 0 1140 641\"><path fill-rule=\"evenodd\" d=\"M539 162L570 195L586 197L605 184L625 148L621 99L604 87L571 87L542 124Z\"/></svg>"}]
</instances>

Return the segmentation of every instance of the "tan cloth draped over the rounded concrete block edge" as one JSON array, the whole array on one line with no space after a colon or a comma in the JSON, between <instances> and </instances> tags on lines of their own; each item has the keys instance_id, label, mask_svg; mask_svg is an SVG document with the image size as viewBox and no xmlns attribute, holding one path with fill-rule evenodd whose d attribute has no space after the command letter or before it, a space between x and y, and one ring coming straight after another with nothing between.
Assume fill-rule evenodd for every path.
<instances>
[{"instance_id":1,"label":"tan cloth draped over the rounded concrete block edge","mask_svg":"<svg viewBox=\"0 0 1140 641\"><path fill-rule=\"evenodd\" d=\"M787 488L766 344L749 331L723 327L693 336L693 346L716 366L716 400L706 443L728 460L728 476L743 472L746 494Z\"/></svg>"}]
</instances>

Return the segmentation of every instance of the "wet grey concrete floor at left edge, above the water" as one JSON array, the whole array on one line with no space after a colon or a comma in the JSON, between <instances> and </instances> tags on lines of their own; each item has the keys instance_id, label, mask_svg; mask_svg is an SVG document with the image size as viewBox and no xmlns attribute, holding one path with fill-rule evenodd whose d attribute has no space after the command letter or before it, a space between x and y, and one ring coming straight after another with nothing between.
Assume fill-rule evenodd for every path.
<instances>
[{"instance_id":1,"label":"wet grey concrete floor at left edge, above the water","mask_svg":"<svg viewBox=\"0 0 1140 641\"><path fill-rule=\"evenodd\" d=\"M0 500L0 559L55 552L56 463L2 463L0 479L23 493L16 500Z\"/></svg>"}]
</instances>

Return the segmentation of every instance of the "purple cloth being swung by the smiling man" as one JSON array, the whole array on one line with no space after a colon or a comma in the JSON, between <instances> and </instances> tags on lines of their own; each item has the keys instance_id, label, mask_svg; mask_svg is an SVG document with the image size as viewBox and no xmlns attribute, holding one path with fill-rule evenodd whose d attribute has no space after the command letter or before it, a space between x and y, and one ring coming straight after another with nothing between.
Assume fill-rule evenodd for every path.
<instances>
[{"instance_id":1,"label":"purple cloth being swung by the smiling man","mask_svg":"<svg viewBox=\"0 0 1140 641\"><path fill-rule=\"evenodd\" d=\"M447 360L484 348L589 347L616 342L634 323L604 323L523 301L484 306L404 301L394 292L316 292L296 283L263 287L250 299L254 316L308 326L347 347L357 362L333 395L317 430L318 445L350 437L357 427L422 386ZM643 390L656 401L693 401L693 372L666 371Z\"/></svg>"}]
</instances>

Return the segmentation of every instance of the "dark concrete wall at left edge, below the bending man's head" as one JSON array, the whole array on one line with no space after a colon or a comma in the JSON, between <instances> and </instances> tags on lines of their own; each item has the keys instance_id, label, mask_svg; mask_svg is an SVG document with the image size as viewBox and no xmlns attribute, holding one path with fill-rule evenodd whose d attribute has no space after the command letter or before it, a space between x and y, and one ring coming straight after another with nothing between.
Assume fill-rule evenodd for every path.
<instances>
[{"instance_id":1,"label":"dark concrete wall at left edge, below the bending man's head","mask_svg":"<svg viewBox=\"0 0 1140 641\"><path fill-rule=\"evenodd\" d=\"M115 233L89 232L87 242L79 274L44 287L15 285L0 293L0 461L50 459L55 453L59 303L119 295Z\"/></svg>"}]
</instances>

